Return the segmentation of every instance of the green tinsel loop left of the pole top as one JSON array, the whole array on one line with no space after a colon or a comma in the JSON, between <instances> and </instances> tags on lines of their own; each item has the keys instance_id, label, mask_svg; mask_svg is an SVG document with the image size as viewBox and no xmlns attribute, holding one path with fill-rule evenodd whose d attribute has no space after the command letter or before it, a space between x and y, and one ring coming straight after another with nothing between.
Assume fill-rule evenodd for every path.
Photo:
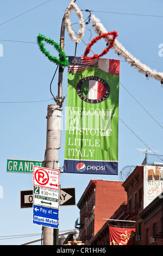
<instances>
[{"instance_id":1,"label":"green tinsel loop left of the pole top","mask_svg":"<svg viewBox=\"0 0 163 256\"><path fill-rule=\"evenodd\" d=\"M54 46L54 48L59 52L60 60L57 57L53 57L49 53L49 51L46 50L42 41L45 41L45 42L47 42L47 44ZM68 62L68 60L66 58L66 54L62 50L61 46L57 42L52 40L51 38L46 38L46 36L39 34L39 35L37 35L37 44L39 45L40 51L43 54L45 54L45 56L47 56L51 62L54 62L55 64L61 65L61 66L69 66L70 65L70 63Z\"/></svg>"}]
</instances>

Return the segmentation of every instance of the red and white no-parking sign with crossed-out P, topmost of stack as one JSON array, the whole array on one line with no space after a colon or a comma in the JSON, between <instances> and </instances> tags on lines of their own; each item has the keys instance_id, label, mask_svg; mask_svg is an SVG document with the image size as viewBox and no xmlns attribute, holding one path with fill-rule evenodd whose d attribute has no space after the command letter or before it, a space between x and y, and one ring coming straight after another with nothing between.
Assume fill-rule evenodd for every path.
<instances>
[{"instance_id":1,"label":"red and white no-parking sign with crossed-out P, topmost of stack","mask_svg":"<svg viewBox=\"0 0 163 256\"><path fill-rule=\"evenodd\" d=\"M59 170L34 166L33 185L59 190Z\"/></svg>"}]
</instances>

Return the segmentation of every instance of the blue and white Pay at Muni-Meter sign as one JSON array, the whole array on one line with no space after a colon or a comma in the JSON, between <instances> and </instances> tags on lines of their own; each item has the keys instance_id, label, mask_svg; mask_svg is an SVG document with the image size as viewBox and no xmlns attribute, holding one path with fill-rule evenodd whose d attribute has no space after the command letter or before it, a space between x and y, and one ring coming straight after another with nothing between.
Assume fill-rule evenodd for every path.
<instances>
[{"instance_id":1,"label":"blue and white Pay at Muni-Meter sign","mask_svg":"<svg viewBox=\"0 0 163 256\"><path fill-rule=\"evenodd\" d=\"M33 205L33 224L58 229L59 210Z\"/></svg>"}]
</instances>

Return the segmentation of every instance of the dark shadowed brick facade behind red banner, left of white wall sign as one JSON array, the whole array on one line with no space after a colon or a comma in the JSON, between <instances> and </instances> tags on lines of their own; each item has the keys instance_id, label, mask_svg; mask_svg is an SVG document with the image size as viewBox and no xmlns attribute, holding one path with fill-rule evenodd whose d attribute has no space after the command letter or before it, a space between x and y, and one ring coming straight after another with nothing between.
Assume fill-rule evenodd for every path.
<instances>
[{"instance_id":1,"label":"dark shadowed brick facade behind red banner, left of white wall sign","mask_svg":"<svg viewBox=\"0 0 163 256\"><path fill-rule=\"evenodd\" d=\"M122 187L127 193L127 199L110 216L111 220L117 221L107 221L104 227L98 231L96 237L91 240L92 245L95 245L96 242L100 244L102 241L104 245L107 243L109 240L109 225L135 227L136 245L142 243L142 220L140 220L139 213L143 210L143 166L136 166L133 173L128 176L126 181L122 182ZM124 220L124 222L118 220ZM105 239L102 232L105 233Z\"/></svg>"}]
</instances>

